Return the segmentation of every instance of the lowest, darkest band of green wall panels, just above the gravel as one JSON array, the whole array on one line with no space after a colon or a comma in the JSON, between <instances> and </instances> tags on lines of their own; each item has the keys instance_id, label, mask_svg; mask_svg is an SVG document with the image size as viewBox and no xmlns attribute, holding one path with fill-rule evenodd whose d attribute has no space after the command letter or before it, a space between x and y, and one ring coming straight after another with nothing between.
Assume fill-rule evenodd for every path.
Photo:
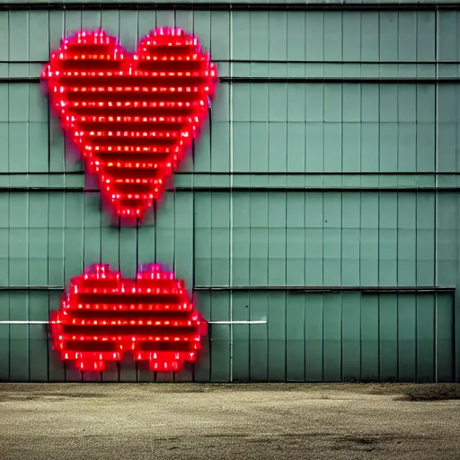
<instances>
[{"instance_id":1,"label":"lowest, darkest band of green wall panels, just above the gravel","mask_svg":"<svg viewBox=\"0 0 460 460\"><path fill-rule=\"evenodd\" d=\"M0 379L10 381L452 381L453 299L448 294L201 293L211 321L199 362L154 375L124 361L102 374L64 367L41 324L2 324ZM230 305L233 314L230 316ZM1 291L2 320L46 321L58 291ZM435 323L436 314L436 323ZM436 324L436 327L434 325ZM435 335L436 334L436 335ZM435 339L436 337L436 339Z\"/></svg>"}]
</instances>

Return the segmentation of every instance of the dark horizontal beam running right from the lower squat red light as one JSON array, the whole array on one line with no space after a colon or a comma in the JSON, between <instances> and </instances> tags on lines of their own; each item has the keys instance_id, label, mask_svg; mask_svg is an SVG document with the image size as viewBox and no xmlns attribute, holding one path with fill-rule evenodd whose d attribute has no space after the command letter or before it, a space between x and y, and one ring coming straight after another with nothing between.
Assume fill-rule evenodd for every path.
<instances>
[{"instance_id":1,"label":"dark horizontal beam running right from the lower squat red light","mask_svg":"<svg viewBox=\"0 0 460 460\"><path fill-rule=\"evenodd\" d=\"M317 294L328 292L360 292L362 294L432 294L453 293L454 286L195 286L195 291L207 292L288 292L294 294Z\"/></svg>"}]
</instances>

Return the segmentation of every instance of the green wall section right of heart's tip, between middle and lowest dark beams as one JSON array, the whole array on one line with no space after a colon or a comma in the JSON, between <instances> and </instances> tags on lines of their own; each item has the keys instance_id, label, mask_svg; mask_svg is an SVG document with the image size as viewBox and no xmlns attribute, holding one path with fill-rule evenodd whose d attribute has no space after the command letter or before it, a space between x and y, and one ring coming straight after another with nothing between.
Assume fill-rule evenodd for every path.
<instances>
[{"instance_id":1,"label":"green wall section right of heart's tip, between middle and lowest dark beams","mask_svg":"<svg viewBox=\"0 0 460 460\"><path fill-rule=\"evenodd\" d=\"M228 285L230 199L236 286L433 283L435 216L429 197L405 191L234 191L232 197L200 193L195 198L195 271L200 286ZM214 248L222 254L217 261ZM452 285L453 276L440 284Z\"/></svg>"}]
</instances>

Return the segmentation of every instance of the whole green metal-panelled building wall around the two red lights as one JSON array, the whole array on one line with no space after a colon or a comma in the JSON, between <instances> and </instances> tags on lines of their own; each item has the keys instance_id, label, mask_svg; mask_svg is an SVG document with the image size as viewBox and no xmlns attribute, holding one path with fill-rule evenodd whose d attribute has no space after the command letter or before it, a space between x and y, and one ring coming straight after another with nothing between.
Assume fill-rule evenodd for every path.
<instances>
[{"instance_id":1,"label":"whole green metal-panelled building wall around the two red lights","mask_svg":"<svg viewBox=\"0 0 460 460\"><path fill-rule=\"evenodd\" d=\"M40 73L75 31L157 27L220 81L173 187L113 225ZM447 2L2 2L0 381L460 381L459 30ZM60 360L49 314L97 263L184 280L194 365Z\"/></svg>"}]
</instances>

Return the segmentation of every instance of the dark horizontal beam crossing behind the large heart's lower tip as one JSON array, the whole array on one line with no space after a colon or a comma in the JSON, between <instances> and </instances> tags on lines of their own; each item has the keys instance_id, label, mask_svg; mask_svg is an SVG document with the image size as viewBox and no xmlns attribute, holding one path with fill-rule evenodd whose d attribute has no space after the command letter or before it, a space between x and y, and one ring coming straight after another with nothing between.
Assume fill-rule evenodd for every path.
<instances>
[{"instance_id":1,"label":"dark horizontal beam crossing behind the large heart's lower tip","mask_svg":"<svg viewBox=\"0 0 460 460\"><path fill-rule=\"evenodd\" d=\"M460 191L460 187L175 187L166 189L176 193L236 193L236 192L354 192L354 193L433 193ZM84 189L84 187L0 187L0 193L100 193L98 189Z\"/></svg>"}]
</instances>

